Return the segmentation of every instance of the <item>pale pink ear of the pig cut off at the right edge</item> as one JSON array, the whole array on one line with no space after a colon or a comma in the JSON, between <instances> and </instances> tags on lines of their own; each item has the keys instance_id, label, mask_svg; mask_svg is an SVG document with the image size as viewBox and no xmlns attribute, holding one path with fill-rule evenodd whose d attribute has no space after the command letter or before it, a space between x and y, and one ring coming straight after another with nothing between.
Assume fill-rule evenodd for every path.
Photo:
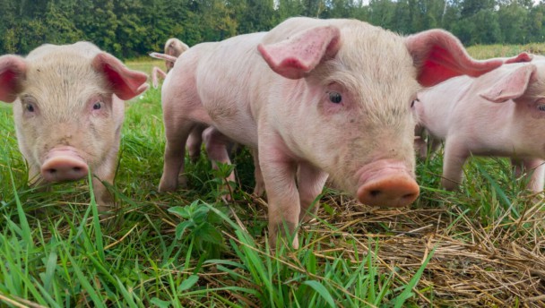
<instances>
[{"instance_id":1,"label":"pale pink ear of the pig cut off at the right edge","mask_svg":"<svg viewBox=\"0 0 545 308\"><path fill-rule=\"evenodd\" d=\"M508 99L520 98L532 82L535 65L524 65L512 71L480 93L481 98L491 102L503 103Z\"/></svg>"}]
</instances>

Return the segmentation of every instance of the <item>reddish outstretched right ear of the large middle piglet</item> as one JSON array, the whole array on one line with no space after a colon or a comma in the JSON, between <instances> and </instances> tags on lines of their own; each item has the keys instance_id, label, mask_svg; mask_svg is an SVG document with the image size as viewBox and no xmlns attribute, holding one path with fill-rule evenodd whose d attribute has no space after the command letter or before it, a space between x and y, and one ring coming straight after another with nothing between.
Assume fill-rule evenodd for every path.
<instances>
[{"instance_id":1,"label":"reddish outstretched right ear of the large middle piglet","mask_svg":"<svg viewBox=\"0 0 545 308\"><path fill-rule=\"evenodd\" d=\"M503 64L503 60L477 61L467 54L460 40L445 30L427 30L405 39L419 70L418 81L429 87L459 75L478 77Z\"/></svg>"}]
</instances>

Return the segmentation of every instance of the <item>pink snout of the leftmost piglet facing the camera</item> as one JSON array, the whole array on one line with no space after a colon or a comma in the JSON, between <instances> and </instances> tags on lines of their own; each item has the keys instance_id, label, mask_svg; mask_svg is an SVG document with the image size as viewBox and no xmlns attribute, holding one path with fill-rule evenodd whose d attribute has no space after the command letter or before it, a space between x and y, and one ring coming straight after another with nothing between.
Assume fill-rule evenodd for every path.
<instances>
[{"instance_id":1,"label":"pink snout of the leftmost piglet facing the camera","mask_svg":"<svg viewBox=\"0 0 545 308\"><path fill-rule=\"evenodd\" d=\"M87 176L89 168L77 151L71 147L50 150L41 166L41 175L47 182L67 182Z\"/></svg>"}]
</instances>

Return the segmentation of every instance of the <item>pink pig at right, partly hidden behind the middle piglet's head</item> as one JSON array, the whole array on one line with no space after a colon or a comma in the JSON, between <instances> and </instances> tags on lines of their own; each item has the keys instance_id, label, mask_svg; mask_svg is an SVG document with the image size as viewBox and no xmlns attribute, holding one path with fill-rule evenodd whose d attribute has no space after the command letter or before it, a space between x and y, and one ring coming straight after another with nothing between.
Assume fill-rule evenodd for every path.
<instances>
[{"instance_id":1,"label":"pink pig at right, partly hidden behind the middle piglet's head","mask_svg":"<svg viewBox=\"0 0 545 308\"><path fill-rule=\"evenodd\" d=\"M543 80L545 57L538 56L530 63L506 64L478 78L456 77L419 93L415 110L431 150L445 141L441 184L446 190L462 183L463 164L471 155L511 158L515 175L529 173L527 188L543 190Z\"/></svg>"}]
</instances>

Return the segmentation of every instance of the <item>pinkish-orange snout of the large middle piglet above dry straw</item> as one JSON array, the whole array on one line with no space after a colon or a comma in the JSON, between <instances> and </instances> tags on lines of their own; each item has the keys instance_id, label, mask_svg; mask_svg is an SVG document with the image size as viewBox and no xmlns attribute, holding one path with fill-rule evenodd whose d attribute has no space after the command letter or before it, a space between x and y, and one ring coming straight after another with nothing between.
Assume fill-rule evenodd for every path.
<instances>
[{"instance_id":1,"label":"pinkish-orange snout of the large middle piglet above dry straw","mask_svg":"<svg viewBox=\"0 0 545 308\"><path fill-rule=\"evenodd\" d=\"M414 176L401 162L377 161L359 171L358 200L370 206L404 207L419 196Z\"/></svg>"}]
</instances>

